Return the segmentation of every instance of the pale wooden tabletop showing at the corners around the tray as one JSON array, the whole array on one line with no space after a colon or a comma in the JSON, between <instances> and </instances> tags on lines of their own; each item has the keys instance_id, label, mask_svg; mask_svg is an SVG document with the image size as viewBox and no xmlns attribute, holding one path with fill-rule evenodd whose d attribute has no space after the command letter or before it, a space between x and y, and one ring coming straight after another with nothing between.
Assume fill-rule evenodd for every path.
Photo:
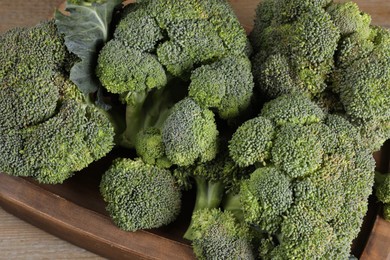
<instances>
[{"instance_id":1,"label":"pale wooden tabletop showing at the corners around the tray","mask_svg":"<svg viewBox=\"0 0 390 260\"><path fill-rule=\"evenodd\" d=\"M16 26L34 25L51 17L63 0L1 0L0 33ZM259 0L231 0L234 8L245 10L240 16L246 28L252 24L254 7ZM390 27L390 1L358 0L370 13L373 23ZM51 236L0 208L0 259L98 259L99 257L68 242Z\"/></svg>"}]
</instances>

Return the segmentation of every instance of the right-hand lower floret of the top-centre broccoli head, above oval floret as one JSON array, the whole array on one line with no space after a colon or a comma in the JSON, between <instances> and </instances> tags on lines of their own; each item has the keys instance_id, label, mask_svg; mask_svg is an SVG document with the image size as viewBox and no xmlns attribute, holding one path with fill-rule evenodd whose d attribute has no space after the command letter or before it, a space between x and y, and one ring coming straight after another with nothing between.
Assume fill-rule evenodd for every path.
<instances>
[{"instance_id":1,"label":"right-hand lower floret of the top-centre broccoli head, above oval floret","mask_svg":"<svg viewBox=\"0 0 390 260\"><path fill-rule=\"evenodd\" d=\"M201 106L215 108L223 119L237 117L250 103L251 63L246 56L229 56L195 69L189 96Z\"/></svg>"}]
</instances>

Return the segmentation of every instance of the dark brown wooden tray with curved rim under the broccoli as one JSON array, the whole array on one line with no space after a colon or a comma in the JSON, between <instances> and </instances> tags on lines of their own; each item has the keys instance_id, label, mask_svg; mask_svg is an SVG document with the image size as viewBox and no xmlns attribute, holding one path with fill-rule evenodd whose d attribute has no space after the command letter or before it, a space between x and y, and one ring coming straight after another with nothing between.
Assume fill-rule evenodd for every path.
<instances>
[{"instance_id":1,"label":"dark brown wooden tray with curved rim under the broccoli","mask_svg":"<svg viewBox=\"0 0 390 260\"><path fill-rule=\"evenodd\" d=\"M259 0L230 2L250 31ZM373 16L375 24L390 25L387 0L356 2ZM183 212L167 227L132 233L112 224L98 185L110 158L120 153L112 152L111 157L94 163L62 185L42 185L29 178L0 174L0 206L51 234L111 259L194 259L190 244L182 239L194 203L191 193L183 195ZM390 142L375 158L378 170L390 171ZM378 211L380 207L372 197L362 231L352 247L360 259L390 259L390 223L379 217Z\"/></svg>"}]
</instances>

